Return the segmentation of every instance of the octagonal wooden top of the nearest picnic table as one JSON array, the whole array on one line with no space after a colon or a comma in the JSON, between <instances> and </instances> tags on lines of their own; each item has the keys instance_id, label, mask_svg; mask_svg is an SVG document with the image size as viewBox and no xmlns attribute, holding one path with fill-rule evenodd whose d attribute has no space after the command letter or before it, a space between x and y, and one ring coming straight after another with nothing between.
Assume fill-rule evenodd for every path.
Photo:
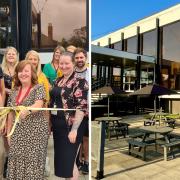
<instances>
[{"instance_id":1,"label":"octagonal wooden top of the nearest picnic table","mask_svg":"<svg viewBox=\"0 0 180 180\"><path fill-rule=\"evenodd\" d=\"M140 129L144 131L160 133L160 134L166 134L173 131L173 128L166 127L166 126L143 126L143 127L140 127Z\"/></svg>"}]
</instances>

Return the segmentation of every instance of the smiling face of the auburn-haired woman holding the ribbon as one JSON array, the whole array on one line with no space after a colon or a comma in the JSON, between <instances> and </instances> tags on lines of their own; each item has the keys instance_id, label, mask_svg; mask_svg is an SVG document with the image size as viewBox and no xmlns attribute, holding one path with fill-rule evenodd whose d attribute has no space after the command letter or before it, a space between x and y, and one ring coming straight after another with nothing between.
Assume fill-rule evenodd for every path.
<instances>
[{"instance_id":1,"label":"smiling face of the auburn-haired woman holding the ribbon","mask_svg":"<svg viewBox=\"0 0 180 180\"><path fill-rule=\"evenodd\" d=\"M18 79L21 82L21 84L30 84L32 79L32 70L31 65L27 64L24 66L22 71L18 72Z\"/></svg>"}]
</instances>

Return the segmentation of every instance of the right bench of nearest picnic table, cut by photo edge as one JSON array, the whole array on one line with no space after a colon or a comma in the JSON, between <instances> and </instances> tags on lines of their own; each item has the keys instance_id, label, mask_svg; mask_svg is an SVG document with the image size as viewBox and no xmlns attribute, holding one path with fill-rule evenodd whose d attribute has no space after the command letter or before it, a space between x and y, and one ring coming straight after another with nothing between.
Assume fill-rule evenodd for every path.
<instances>
[{"instance_id":1,"label":"right bench of nearest picnic table, cut by photo edge","mask_svg":"<svg viewBox=\"0 0 180 180\"><path fill-rule=\"evenodd\" d=\"M168 154L172 154L172 157L175 156L174 148L180 146L180 139L176 139L173 142L162 144L161 145L164 148L164 160L168 160ZM170 153L168 153L168 150L170 150ZM178 152L180 149L178 149Z\"/></svg>"}]
</instances>

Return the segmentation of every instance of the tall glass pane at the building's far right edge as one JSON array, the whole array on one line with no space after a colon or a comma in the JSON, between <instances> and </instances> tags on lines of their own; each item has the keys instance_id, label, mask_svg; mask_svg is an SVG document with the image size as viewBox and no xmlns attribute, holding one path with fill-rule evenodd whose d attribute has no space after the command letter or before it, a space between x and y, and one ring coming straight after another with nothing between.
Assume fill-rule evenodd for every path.
<instances>
[{"instance_id":1,"label":"tall glass pane at the building's far right edge","mask_svg":"<svg viewBox=\"0 0 180 180\"><path fill-rule=\"evenodd\" d=\"M162 85L180 90L180 22L163 27Z\"/></svg>"}]
</instances>

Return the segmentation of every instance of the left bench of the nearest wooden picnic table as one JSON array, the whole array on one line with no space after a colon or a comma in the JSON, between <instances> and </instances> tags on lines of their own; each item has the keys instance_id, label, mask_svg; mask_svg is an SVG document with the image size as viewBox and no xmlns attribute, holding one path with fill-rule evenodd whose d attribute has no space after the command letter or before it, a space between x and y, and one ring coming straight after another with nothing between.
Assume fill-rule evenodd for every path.
<instances>
[{"instance_id":1,"label":"left bench of the nearest wooden picnic table","mask_svg":"<svg viewBox=\"0 0 180 180\"><path fill-rule=\"evenodd\" d=\"M136 141L134 139L128 140L128 144L129 144L129 155L131 155L131 153L138 155L142 157L144 161L146 160L146 147L153 145L153 143ZM135 147L138 148L135 149ZM143 152L139 151L140 149L142 149Z\"/></svg>"}]
</instances>

